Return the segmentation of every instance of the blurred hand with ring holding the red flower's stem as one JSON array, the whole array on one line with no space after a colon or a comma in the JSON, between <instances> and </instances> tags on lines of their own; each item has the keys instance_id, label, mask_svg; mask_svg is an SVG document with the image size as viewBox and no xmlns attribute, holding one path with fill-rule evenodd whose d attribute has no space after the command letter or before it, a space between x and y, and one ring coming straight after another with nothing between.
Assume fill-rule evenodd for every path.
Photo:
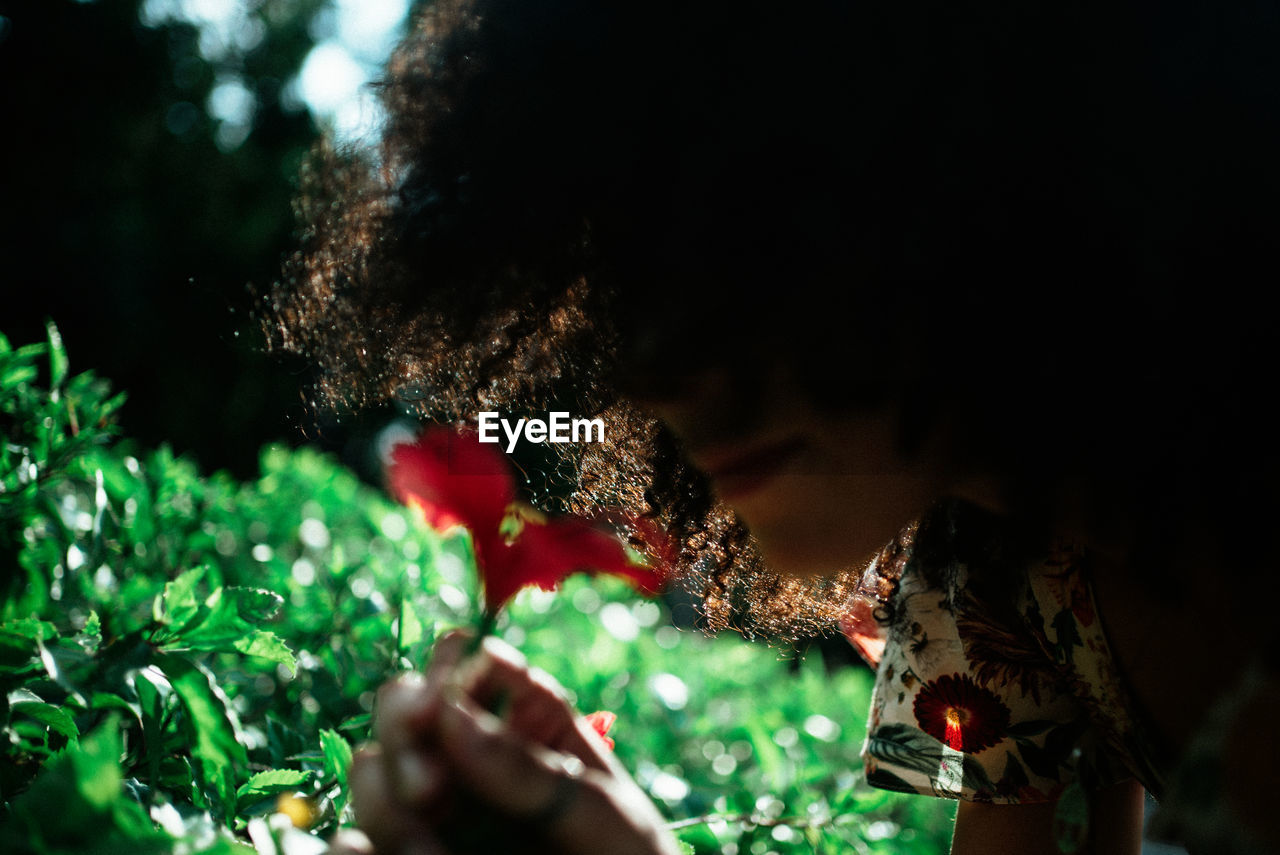
<instances>
[{"instance_id":1,"label":"blurred hand with ring holding the red flower's stem","mask_svg":"<svg viewBox=\"0 0 1280 855\"><path fill-rule=\"evenodd\" d=\"M380 690L375 742L351 772L364 835L339 835L333 852L462 855L467 838L492 833L512 852L680 851L549 675L497 639L465 657L468 644L445 636L425 676Z\"/></svg>"}]
</instances>

